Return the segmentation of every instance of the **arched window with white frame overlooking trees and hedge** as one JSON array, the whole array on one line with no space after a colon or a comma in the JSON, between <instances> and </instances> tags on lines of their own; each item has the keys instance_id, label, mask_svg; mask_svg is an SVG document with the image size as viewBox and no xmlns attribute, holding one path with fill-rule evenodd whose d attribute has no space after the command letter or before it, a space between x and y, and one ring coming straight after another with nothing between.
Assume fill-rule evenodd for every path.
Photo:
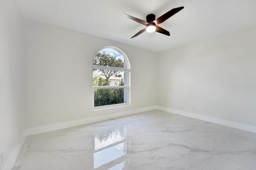
<instances>
[{"instance_id":1,"label":"arched window with white frame overlooking trees and hedge","mask_svg":"<svg viewBox=\"0 0 256 170\"><path fill-rule=\"evenodd\" d=\"M130 62L116 47L104 47L93 59L94 107L130 104Z\"/></svg>"}]
</instances>

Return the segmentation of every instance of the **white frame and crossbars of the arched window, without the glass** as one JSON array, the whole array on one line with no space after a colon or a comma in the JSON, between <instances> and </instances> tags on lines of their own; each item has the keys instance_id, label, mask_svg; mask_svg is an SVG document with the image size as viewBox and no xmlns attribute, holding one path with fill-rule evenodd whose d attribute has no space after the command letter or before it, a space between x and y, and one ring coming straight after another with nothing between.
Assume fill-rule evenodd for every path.
<instances>
[{"instance_id":1,"label":"white frame and crossbars of the arched window, without the glass","mask_svg":"<svg viewBox=\"0 0 256 170\"><path fill-rule=\"evenodd\" d=\"M120 53L124 57L124 60L125 60L124 62L126 62L127 68L92 65L92 69L106 69L106 70L126 71L127 72L127 75L126 75L127 85L126 86L92 86L92 88L93 88L93 111L102 110L102 109L110 109L110 108L115 108L115 107L130 106L131 105L131 97L130 97L131 96L130 95L131 94L131 90L130 90L130 80L131 80L130 79L130 76L131 76L130 61L129 61L128 57L126 56L126 54L121 49L118 49L117 47L107 46L107 47L103 47L99 51L101 51L103 49L113 49L113 50L117 51L118 53ZM127 89L127 94L126 94L127 95L127 102L126 103L121 103L121 104L105 105L105 106L94 106L94 89L107 89L107 88ZM124 96L125 96L125 94L124 94Z\"/></svg>"}]
</instances>

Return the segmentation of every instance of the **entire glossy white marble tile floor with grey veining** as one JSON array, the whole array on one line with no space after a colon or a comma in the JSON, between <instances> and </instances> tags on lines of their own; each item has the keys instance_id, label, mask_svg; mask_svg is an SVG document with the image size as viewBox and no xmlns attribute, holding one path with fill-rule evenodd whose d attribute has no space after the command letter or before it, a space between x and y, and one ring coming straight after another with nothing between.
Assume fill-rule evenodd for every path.
<instances>
[{"instance_id":1,"label":"entire glossy white marble tile floor with grey veining","mask_svg":"<svg viewBox=\"0 0 256 170\"><path fill-rule=\"evenodd\" d=\"M255 133L155 109L28 136L12 170L255 167Z\"/></svg>"}]
</instances>

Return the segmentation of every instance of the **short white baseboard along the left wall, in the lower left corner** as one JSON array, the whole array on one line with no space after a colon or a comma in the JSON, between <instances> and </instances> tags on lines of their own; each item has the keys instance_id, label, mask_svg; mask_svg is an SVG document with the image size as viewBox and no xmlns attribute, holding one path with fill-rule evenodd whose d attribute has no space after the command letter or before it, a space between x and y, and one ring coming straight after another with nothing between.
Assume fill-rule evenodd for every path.
<instances>
[{"instance_id":1,"label":"short white baseboard along the left wall, in the lower left corner","mask_svg":"<svg viewBox=\"0 0 256 170\"><path fill-rule=\"evenodd\" d=\"M26 137L21 137L20 140L18 140L16 147L14 148L14 150L12 151L10 157L8 158L5 166L4 166L4 170L11 170L17 157L18 154L20 152L20 149L24 143L24 141L26 140Z\"/></svg>"}]
</instances>

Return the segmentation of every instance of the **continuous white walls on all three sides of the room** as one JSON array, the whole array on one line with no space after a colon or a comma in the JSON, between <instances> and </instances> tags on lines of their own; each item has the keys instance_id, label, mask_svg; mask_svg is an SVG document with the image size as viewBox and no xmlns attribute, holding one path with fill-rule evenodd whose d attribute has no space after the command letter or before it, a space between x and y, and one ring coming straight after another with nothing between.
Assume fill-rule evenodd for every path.
<instances>
[{"instance_id":1,"label":"continuous white walls on all three sides of the room","mask_svg":"<svg viewBox=\"0 0 256 170\"><path fill-rule=\"evenodd\" d=\"M0 1L0 169L25 128L156 104L256 126L256 28L154 53L22 21L14 0ZM92 111L92 60L105 46L130 60L131 106Z\"/></svg>"}]
</instances>

